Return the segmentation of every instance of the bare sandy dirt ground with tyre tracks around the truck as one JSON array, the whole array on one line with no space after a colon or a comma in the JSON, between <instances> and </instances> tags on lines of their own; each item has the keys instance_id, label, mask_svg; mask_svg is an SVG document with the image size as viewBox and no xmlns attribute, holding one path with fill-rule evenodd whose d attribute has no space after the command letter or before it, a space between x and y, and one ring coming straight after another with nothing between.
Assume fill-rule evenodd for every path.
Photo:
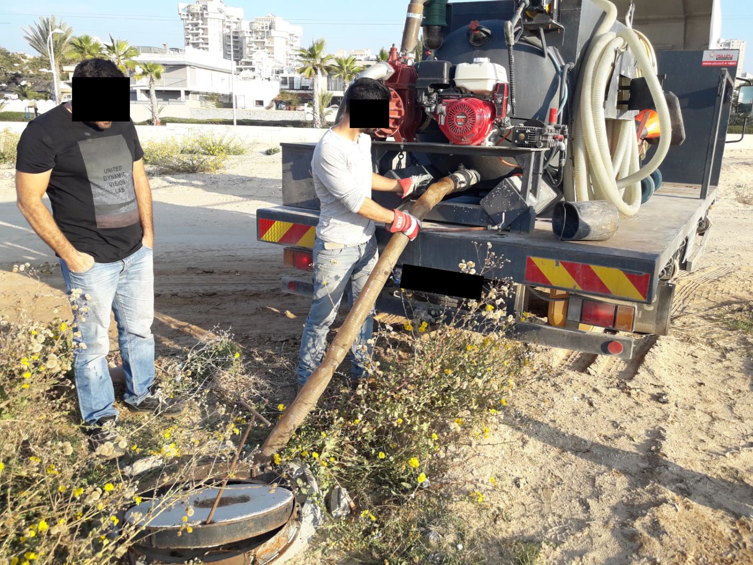
<instances>
[{"instance_id":1,"label":"bare sandy dirt ground with tyre tracks around the truck","mask_svg":"<svg viewBox=\"0 0 753 565\"><path fill-rule=\"evenodd\" d=\"M255 241L255 210L280 195L279 154L264 148L226 175L152 179L161 353L215 326L297 346L308 304L279 292L281 248ZM53 257L2 173L0 311L38 295L35 316L67 316L59 274L37 286L9 272ZM753 151L730 152L703 264L676 281L671 335L645 337L631 362L542 349L544 379L511 396L488 445L450 454L468 491L498 481L487 512L469 510L483 537L542 540L553 563L753 563L753 360L718 321L753 300L751 187Z\"/></svg>"}]
</instances>

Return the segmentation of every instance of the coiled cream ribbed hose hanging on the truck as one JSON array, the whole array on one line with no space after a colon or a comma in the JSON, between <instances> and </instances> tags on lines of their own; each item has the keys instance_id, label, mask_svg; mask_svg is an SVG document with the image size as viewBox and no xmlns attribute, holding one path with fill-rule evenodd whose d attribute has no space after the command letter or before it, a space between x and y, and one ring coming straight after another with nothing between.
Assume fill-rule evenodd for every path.
<instances>
[{"instance_id":1,"label":"coiled cream ribbed hose hanging on the truck","mask_svg":"<svg viewBox=\"0 0 753 565\"><path fill-rule=\"evenodd\" d=\"M666 157L672 131L661 84L645 44L632 29L609 31L617 20L617 8L608 0L593 0L605 11L581 67L573 124L575 170L566 175L567 200L609 200L621 214L631 216L641 206L641 181ZM636 126L633 121L606 121L605 90L618 50L630 47L639 70L648 82L664 133L654 157L640 168ZM611 150L614 148L614 151ZM574 178L573 178L574 177Z\"/></svg>"}]
</instances>

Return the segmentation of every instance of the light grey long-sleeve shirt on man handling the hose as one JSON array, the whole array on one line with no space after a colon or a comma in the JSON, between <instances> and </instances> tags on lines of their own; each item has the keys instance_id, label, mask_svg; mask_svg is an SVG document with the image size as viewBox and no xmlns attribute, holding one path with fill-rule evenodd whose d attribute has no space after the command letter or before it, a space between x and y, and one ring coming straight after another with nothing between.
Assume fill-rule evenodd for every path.
<instances>
[{"instance_id":1,"label":"light grey long-sleeve shirt on man handling the hose","mask_svg":"<svg viewBox=\"0 0 753 565\"><path fill-rule=\"evenodd\" d=\"M371 138L361 133L352 142L328 130L316 144L311 170L322 204L316 237L343 245L370 240L374 223L356 212L371 197Z\"/></svg>"}]
</instances>

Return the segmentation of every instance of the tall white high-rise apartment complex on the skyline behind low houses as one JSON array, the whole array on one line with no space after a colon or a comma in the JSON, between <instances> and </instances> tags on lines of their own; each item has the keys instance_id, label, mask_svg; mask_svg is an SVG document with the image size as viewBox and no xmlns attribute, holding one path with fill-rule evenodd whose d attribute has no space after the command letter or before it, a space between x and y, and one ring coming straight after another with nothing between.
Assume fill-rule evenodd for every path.
<instances>
[{"instance_id":1,"label":"tall white high-rise apartment complex on the skyline behind low houses","mask_svg":"<svg viewBox=\"0 0 753 565\"><path fill-rule=\"evenodd\" d=\"M242 8L222 0L196 0L178 4L186 47L234 60L239 72L254 78L271 78L285 67L297 66L303 28L267 14L244 20Z\"/></svg>"}]
</instances>

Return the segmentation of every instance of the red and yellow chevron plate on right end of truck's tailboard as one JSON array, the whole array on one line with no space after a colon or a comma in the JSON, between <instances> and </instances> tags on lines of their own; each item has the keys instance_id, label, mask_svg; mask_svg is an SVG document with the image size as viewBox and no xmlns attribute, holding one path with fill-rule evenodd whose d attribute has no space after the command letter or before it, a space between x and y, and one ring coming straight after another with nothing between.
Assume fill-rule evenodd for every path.
<instances>
[{"instance_id":1,"label":"red and yellow chevron plate on right end of truck's tailboard","mask_svg":"<svg viewBox=\"0 0 753 565\"><path fill-rule=\"evenodd\" d=\"M526 258L525 281L534 285L645 301L651 276L648 273L626 273L614 267L529 257Z\"/></svg>"}]
</instances>

